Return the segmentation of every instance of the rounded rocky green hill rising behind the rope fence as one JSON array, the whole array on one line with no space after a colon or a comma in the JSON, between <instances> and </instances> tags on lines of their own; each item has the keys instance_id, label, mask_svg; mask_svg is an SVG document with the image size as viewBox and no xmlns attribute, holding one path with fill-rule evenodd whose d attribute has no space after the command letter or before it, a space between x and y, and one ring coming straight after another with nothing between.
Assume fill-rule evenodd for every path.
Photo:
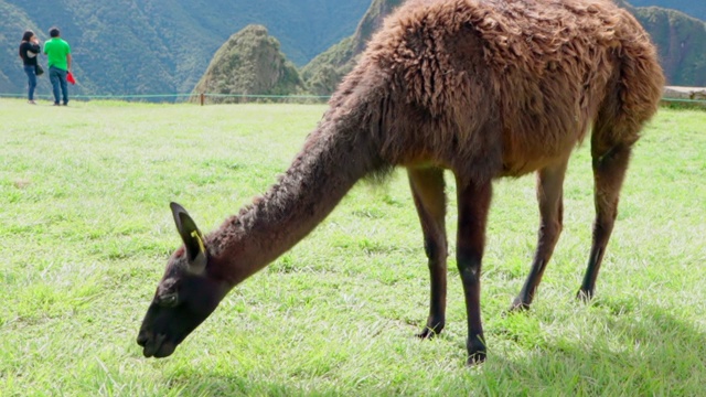
<instances>
[{"instance_id":1,"label":"rounded rocky green hill rising behind the rope fence","mask_svg":"<svg viewBox=\"0 0 706 397\"><path fill-rule=\"evenodd\" d=\"M247 25L216 52L196 87L199 94L286 95L302 89L295 65L280 51L277 39L263 25ZM211 103L237 103L243 98L210 97ZM250 98L252 99L252 98Z\"/></svg>"}]
</instances>

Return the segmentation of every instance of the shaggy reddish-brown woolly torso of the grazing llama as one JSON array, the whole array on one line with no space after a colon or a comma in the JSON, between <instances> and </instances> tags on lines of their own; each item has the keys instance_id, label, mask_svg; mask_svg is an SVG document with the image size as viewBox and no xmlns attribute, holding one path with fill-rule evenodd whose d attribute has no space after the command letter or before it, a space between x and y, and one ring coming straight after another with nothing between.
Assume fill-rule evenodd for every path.
<instances>
[{"instance_id":1,"label":"shaggy reddish-brown woolly torso of the grazing llama","mask_svg":"<svg viewBox=\"0 0 706 397\"><path fill-rule=\"evenodd\" d=\"M483 179L566 153L608 93L644 122L662 83L644 30L607 0L411 0L332 105L364 95L393 163L431 161Z\"/></svg>"}]
</instances>

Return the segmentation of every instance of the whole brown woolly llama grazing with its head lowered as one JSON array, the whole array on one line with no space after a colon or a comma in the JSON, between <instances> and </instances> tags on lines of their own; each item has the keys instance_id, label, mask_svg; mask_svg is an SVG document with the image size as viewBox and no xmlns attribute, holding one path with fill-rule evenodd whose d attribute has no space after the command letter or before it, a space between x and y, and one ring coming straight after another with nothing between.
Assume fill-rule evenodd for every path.
<instances>
[{"instance_id":1,"label":"whole brown woolly llama grazing with its head lowered","mask_svg":"<svg viewBox=\"0 0 706 397\"><path fill-rule=\"evenodd\" d=\"M596 222L578 293L589 299L631 148L656 111L663 83L646 33L608 0L410 0L386 20L303 150L263 197L205 237L183 208L172 206L186 249L170 259L138 342L146 355L171 354L229 289L303 238L356 181L400 165L408 171L431 278L421 337L446 324L442 170L456 176L468 356L480 362L492 180L537 172L538 244L511 308L524 309L561 232L569 154L592 130ZM205 303L190 298L170 307L173 293Z\"/></svg>"}]
</instances>

